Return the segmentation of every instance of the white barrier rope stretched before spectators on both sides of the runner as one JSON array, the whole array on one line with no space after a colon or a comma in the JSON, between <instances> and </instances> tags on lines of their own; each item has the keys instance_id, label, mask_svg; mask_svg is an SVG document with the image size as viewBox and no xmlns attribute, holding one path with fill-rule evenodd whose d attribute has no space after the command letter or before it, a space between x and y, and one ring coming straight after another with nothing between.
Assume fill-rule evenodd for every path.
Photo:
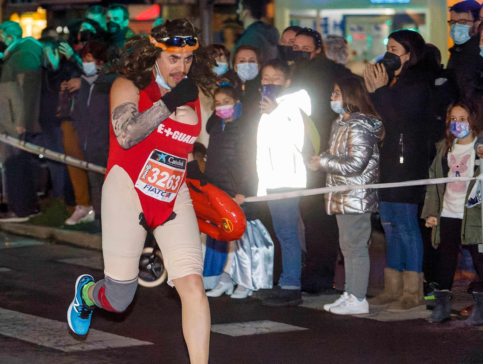
<instances>
[{"instance_id":1,"label":"white barrier rope stretched before spectators on both sides of the runner","mask_svg":"<svg viewBox=\"0 0 483 364\"><path fill-rule=\"evenodd\" d=\"M32 143L11 137L7 134L0 134L0 141L13 145L14 147L20 148L32 154L37 154L37 155L42 154L45 158L48 158L57 162L65 163L70 166L74 166L74 167L78 167L86 170L91 170L101 174L106 174L106 168L104 167L100 167L93 163L88 163L81 159L72 158L69 155L51 151L39 145L35 145ZM433 179L427 179L427 180L416 180L416 181L405 181L405 182L374 183L374 184L366 184L366 185L351 184L351 185L342 185L342 186L312 188L309 190L282 192L282 193L270 194L267 196L245 197L244 202L279 200L282 198L322 195L328 192L363 190L363 189L369 189L369 188L374 189L374 188L419 186L419 185L439 184L439 183L449 183L449 182L467 182L471 180L483 180L483 174L478 177L447 177L447 178L433 178Z\"/></svg>"}]
</instances>

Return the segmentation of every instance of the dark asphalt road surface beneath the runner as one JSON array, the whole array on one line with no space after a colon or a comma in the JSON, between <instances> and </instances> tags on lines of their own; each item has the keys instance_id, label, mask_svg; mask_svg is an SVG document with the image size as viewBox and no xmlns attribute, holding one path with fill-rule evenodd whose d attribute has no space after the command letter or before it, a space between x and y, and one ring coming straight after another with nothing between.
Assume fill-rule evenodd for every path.
<instances>
[{"instance_id":1,"label":"dark asphalt road surface beneath the runner","mask_svg":"<svg viewBox=\"0 0 483 364\"><path fill-rule=\"evenodd\" d=\"M2 233L0 243L0 364L188 363L180 300L168 285L139 287L125 313L97 309L88 335L76 336L66 311L80 274L103 277L100 252ZM229 296L210 298L210 308L220 331L238 323L235 334L247 334L246 322L258 322L252 335L212 332L212 364L483 363L483 327L458 317L382 322ZM292 326L281 332L283 324Z\"/></svg>"}]
</instances>

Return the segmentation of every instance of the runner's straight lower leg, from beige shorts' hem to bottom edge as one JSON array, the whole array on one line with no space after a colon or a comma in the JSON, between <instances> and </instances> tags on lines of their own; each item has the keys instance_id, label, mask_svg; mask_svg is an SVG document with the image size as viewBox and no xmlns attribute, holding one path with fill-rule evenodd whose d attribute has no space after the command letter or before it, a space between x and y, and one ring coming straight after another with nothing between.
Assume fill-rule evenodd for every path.
<instances>
[{"instance_id":1,"label":"runner's straight lower leg, from beige shorts' hem to bottom edge","mask_svg":"<svg viewBox=\"0 0 483 364\"><path fill-rule=\"evenodd\" d=\"M203 279L189 274L173 280L181 298L183 334L191 364L207 364L210 350L210 306Z\"/></svg>"}]
</instances>

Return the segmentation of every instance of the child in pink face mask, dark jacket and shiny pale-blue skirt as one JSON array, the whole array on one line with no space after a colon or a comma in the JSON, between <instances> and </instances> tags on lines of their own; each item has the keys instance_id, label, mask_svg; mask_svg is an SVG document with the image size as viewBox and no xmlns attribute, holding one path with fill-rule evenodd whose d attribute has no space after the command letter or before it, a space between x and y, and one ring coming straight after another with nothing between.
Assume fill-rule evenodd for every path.
<instances>
[{"instance_id":1,"label":"child in pink face mask, dark jacket and shiny pale-blue skirt","mask_svg":"<svg viewBox=\"0 0 483 364\"><path fill-rule=\"evenodd\" d=\"M271 288L273 283L273 241L263 224L255 218L253 204L244 204L245 196L256 194L255 155L252 152L255 136L245 115L239 96L231 86L220 86L214 91L215 111L208 121L210 143L206 155L205 175L209 182L225 191L241 205L247 220L243 236L227 242L227 262L220 280L208 297L230 294L232 298L245 298L253 291ZM243 105L244 106L244 105ZM207 238L209 248L225 245ZM212 249L213 250L213 249ZM216 249L216 250L221 250ZM214 253L216 254L216 253ZM203 275L220 274L205 258ZM223 263L225 263L223 261ZM234 284L237 285L233 292Z\"/></svg>"}]
</instances>

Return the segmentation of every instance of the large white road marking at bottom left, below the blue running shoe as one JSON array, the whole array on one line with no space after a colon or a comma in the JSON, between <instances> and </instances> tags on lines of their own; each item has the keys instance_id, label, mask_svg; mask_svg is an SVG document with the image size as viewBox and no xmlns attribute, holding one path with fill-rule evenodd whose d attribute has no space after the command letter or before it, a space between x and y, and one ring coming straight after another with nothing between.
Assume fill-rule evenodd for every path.
<instances>
[{"instance_id":1,"label":"large white road marking at bottom left, below the blue running shoe","mask_svg":"<svg viewBox=\"0 0 483 364\"><path fill-rule=\"evenodd\" d=\"M154 345L94 329L77 339L70 333L67 318L60 322L4 308L0 308L0 334L65 352Z\"/></svg>"}]
</instances>

